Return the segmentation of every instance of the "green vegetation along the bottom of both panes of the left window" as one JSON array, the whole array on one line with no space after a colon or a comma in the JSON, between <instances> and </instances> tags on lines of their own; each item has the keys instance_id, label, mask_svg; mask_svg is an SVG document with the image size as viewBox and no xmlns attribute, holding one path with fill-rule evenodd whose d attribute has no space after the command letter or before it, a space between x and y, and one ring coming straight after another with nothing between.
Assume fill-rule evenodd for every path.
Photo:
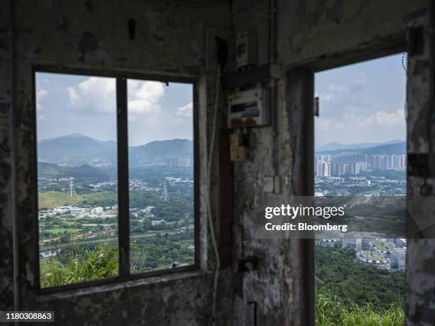
<instances>
[{"instance_id":1,"label":"green vegetation along the bottom of both panes of the left window","mask_svg":"<svg viewBox=\"0 0 435 326\"><path fill-rule=\"evenodd\" d=\"M193 264L193 229L164 232L131 243L131 273ZM116 241L64 246L56 256L41 260L41 287L92 281L118 275Z\"/></svg>"}]
</instances>

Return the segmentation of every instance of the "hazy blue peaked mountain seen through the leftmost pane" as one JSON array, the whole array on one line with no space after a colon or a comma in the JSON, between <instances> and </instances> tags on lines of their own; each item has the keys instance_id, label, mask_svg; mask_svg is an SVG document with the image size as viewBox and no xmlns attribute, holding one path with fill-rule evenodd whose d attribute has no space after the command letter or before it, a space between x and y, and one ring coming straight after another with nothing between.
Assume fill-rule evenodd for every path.
<instances>
[{"instance_id":1,"label":"hazy blue peaked mountain seen through the leftmost pane","mask_svg":"<svg viewBox=\"0 0 435 326\"><path fill-rule=\"evenodd\" d=\"M70 165L92 161L114 161L117 143L99 141L82 134L72 134L38 141L38 161Z\"/></svg>"}]
</instances>

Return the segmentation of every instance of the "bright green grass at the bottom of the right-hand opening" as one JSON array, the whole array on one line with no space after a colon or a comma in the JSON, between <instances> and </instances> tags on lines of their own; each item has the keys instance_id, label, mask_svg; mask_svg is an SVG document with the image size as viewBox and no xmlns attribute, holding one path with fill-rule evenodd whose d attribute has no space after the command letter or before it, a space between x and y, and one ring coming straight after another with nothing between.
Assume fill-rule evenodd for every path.
<instances>
[{"instance_id":1,"label":"bright green grass at the bottom of the right-hand opening","mask_svg":"<svg viewBox=\"0 0 435 326\"><path fill-rule=\"evenodd\" d=\"M367 303L363 306L345 305L338 295L331 292L316 293L316 325L321 326L397 326L404 325L404 309L399 303L389 310L377 310Z\"/></svg>"}]
</instances>

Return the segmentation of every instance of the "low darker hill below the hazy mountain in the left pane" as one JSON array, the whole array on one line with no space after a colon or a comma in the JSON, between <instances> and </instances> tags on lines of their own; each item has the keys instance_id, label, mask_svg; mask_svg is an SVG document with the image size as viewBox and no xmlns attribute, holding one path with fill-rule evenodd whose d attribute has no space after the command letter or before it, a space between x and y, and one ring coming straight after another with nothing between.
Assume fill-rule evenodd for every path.
<instances>
[{"instance_id":1,"label":"low darker hill below the hazy mountain in the left pane","mask_svg":"<svg viewBox=\"0 0 435 326\"><path fill-rule=\"evenodd\" d=\"M57 164L38 162L38 176L45 178L102 178L107 177L107 172L83 164L80 166L60 166Z\"/></svg>"}]
</instances>

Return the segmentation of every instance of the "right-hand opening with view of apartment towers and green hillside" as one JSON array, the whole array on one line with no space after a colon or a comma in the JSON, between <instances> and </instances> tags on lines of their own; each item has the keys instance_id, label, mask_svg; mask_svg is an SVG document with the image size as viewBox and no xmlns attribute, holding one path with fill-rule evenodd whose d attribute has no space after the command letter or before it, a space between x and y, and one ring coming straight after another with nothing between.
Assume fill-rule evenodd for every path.
<instances>
[{"instance_id":1,"label":"right-hand opening with view of apartment towers and green hillside","mask_svg":"<svg viewBox=\"0 0 435 326\"><path fill-rule=\"evenodd\" d=\"M382 228L390 217L385 212L404 210L405 92L402 55L316 74L316 196L358 210L354 216L363 225ZM377 210L379 202L384 209ZM368 315L373 325L404 325L407 240L380 238L360 232L316 239L318 325Z\"/></svg>"}]
</instances>

